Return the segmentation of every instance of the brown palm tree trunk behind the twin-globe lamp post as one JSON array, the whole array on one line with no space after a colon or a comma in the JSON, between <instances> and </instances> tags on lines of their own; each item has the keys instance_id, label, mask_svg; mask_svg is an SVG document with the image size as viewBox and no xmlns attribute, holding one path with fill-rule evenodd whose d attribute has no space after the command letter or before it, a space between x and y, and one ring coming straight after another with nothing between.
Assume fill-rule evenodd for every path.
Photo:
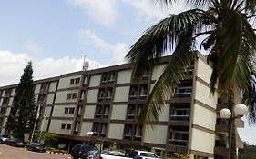
<instances>
[{"instance_id":1,"label":"brown palm tree trunk behind the twin-globe lamp post","mask_svg":"<svg viewBox=\"0 0 256 159\"><path fill-rule=\"evenodd\" d=\"M229 159L237 159L237 153L236 153L236 127L235 127L235 121L234 121L234 88L230 87L228 91L228 104L229 109L231 111L231 117L229 121Z\"/></svg>"}]
</instances>

